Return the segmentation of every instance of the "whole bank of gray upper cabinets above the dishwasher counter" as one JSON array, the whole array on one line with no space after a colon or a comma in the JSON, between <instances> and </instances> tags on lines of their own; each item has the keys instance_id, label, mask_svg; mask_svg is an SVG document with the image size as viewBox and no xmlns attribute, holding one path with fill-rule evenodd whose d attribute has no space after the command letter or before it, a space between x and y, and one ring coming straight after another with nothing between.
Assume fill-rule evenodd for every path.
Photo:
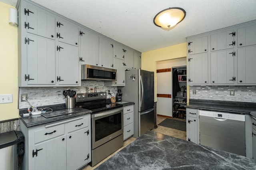
<instances>
[{"instance_id":1,"label":"whole bank of gray upper cabinets above the dishwasher counter","mask_svg":"<svg viewBox=\"0 0 256 170\"><path fill-rule=\"evenodd\" d=\"M196 50L194 42L206 37L210 50ZM187 44L189 85L256 85L256 20L189 37Z\"/></svg>"}]
</instances>

